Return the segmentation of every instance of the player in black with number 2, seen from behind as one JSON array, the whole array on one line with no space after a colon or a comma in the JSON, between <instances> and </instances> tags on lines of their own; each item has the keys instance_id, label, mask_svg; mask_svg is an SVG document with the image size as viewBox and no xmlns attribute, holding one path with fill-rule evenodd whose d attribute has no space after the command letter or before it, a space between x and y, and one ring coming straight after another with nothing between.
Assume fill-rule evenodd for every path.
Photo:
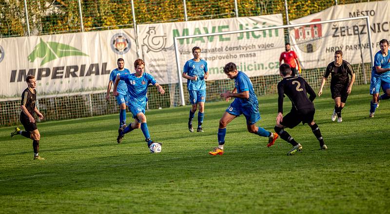
<instances>
[{"instance_id":1,"label":"player in black with number 2, seen from behind","mask_svg":"<svg viewBox=\"0 0 390 214\"><path fill-rule=\"evenodd\" d=\"M286 140L292 144L292 150L287 155L293 155L296 151L302 150L302 145L297 143L284 128L294 128L300 122L307 123L312 132L320 142L320 147L323 150L328 149L324 143L324 139L321 135L320 129L315 124L314 118L314 104L315 92L312 87L301 77L292 77L291 68L287 63L281 64L279 67L280 76L283 80L277 84L278 93L278 114L276 117L276 125L274 130L279 134L280 138ZM307 96L310 95L310 97ZM283 98L284 95L290 98L292 102L292 108L290 113L283 117Z\"/></svg>"}]
</instances>

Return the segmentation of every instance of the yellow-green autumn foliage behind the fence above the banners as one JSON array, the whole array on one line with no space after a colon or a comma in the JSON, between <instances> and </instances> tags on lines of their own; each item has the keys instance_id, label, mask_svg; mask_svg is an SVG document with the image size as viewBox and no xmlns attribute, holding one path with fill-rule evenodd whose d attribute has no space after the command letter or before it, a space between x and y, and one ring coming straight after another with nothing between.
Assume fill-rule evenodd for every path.
<instances>
[{"instance_id":1,"label":"yellow-green autumn foliage behind the fence above the banners","mask_svg":"<svg viewBox=\"0 0 390 214\"><path fill-rule=\"evenodd\" d=\"M338 0L338 4L361 0ZM184 21L182 0L135 0L137 23ZM288 0L289 19L304 17L335 4L335 0ZM130 0L81 0L86 31L133 27ZM238 14L259 16L281 13L284 0L237 0ZM28 0L32 35L81 31L78 0ZM186 0L188 20L235 17L234 0ZM0 0L0 37L26 36L22 0Z\"/></svg>"}]
</instances>

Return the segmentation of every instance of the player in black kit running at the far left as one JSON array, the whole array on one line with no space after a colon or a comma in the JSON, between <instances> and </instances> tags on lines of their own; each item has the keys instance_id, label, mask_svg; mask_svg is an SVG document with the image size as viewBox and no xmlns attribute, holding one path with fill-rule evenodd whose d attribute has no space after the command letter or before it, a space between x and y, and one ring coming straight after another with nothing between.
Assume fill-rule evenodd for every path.
<instances>
[{"instance_id":1,"label":"player in black kit running at the far left","mask_svg":"<svg viewBox=\"0 0 390 214\"><path fill-rule=\"evenodd\" d=\"M28 87L21 95L20 104L20 122L23 124L26 131L21 131L19 127L15 127L15 131L11 133L11 137L21 135L31 138L33 140L34 160L44 160L44 158L40 157L38 154L40 134L34 117L35 114L37 114L39 119L43 119L43 115L35 106L35 102L37 100L37 91L35 90L37 87L37 81L33 75L28 75L26 82Z\"/></svg>"}]
</instances>

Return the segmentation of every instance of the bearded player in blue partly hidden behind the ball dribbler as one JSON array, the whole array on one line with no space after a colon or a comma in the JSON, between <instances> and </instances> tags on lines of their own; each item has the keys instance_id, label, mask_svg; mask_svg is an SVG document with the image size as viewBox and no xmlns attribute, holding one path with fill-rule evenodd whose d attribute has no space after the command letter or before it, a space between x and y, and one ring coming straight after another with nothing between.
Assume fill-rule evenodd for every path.
<instances>
[{"instance_id":1,"label":"bearded player in blue partly hidden behind the ball dribbler","mask_svg":"<svg viewBox=\"0 0 390 214\"><path fill-rule=\"evenodd\" d=\"M110 81L108 82L107 86L107 94L106 94L106 99L107 101L110 100L110 91L111 91L111 85L115 81L115 78L117 78L117 74L124 75L124 74L130 74L129 69L124 68L125 61L123 58L118 58L117 60L117 65L118 67L111 71L110 73ZM119 128L126 127L126 105L127 102L129 101L129 97L127 95L127 86L126 83L121 80L118 83L117 86L117 103L120 107L119 110Z\"/></svg>"}]
</instances>

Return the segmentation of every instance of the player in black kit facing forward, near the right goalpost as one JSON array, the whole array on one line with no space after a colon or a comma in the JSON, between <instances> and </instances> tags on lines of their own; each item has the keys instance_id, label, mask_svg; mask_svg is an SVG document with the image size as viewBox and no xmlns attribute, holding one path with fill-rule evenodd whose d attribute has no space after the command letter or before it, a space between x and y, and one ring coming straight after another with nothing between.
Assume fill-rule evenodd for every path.
<instances>
[{"instance_id":1,"label":"player in black kit facing forward, near the right goalpost","mask_svg":"<svg viewBox=\"0 0 390 214\"><path fill-rule=\"evenodd\" d=\"M352 85L355 81L355 72L353 72L352 66L346 60L343 60L343 52L337 50L334 52L334 61L329 63L326 68L324 77L322 78L321 87L318 92L318 97L322 95L322 88L325 85L326 79L331 74L331 95L334 99L334 110L331 117L332 121L342 122L341 110L344 108L347 97L351 94ZM351 75L351 81L350 77Z\"/></svg>"}]
</instances>

